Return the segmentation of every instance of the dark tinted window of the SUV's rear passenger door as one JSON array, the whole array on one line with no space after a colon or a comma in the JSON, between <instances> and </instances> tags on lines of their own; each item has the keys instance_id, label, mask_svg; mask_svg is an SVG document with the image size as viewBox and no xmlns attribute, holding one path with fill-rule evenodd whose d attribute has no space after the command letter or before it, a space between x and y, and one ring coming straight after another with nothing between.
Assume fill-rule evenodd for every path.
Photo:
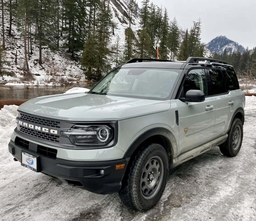
<instances>
[{"instance_id":1,"label":"dark tinted window of the SUV's rear passenger door","mask_svg":"<svg viewBox=\"0 0 256 221\"><path fill-rule=\"evenodd\" d=\"M209 95L223 94L226 93L225 79L221 70L218 69L208 69L209 70L209 81L210 81L210 91Z\"/></svg>"}]
</instances>

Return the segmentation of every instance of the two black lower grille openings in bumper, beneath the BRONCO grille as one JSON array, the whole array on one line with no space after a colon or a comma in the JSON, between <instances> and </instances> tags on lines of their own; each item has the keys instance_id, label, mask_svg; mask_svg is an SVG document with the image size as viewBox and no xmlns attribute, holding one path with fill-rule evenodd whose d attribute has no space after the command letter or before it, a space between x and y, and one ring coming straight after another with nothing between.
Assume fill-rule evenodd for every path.
<instances>
[{"instance_id":1,"label":"two black lower grille openings in bumper, beneath the BRONCO grille","mask_svg":"<svg viewBox=\"0 0 256 221\"><path fill-rule=\"evenodd\" d=\"M20 137L16 137L14 143L19 145L19 146L22 146L26 149L29 149L29 141L24 140ZM37 145L37 153L40 153L40 155L43 155L43 156L46 156L46 157L56 158L57 149Z\"/></svg>"}]
</instances>

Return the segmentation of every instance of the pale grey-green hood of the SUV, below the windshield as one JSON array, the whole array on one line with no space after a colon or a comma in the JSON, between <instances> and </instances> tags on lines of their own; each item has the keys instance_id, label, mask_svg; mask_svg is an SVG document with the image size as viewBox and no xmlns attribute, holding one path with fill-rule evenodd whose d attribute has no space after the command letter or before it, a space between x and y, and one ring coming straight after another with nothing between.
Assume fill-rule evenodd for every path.
<instances>
[{"instance_id":1,"label":"pale grey-green hood of the SUV, below the windshield","mask_svg":"<svg viewBox=\"0 0 256 221\"><path fill-rule=\"evenodd\" d=\"M153 114L170 109L171 101L75 93L31 99L18 110L67 121L112 121Z\"/></svg>"}]
</instances>

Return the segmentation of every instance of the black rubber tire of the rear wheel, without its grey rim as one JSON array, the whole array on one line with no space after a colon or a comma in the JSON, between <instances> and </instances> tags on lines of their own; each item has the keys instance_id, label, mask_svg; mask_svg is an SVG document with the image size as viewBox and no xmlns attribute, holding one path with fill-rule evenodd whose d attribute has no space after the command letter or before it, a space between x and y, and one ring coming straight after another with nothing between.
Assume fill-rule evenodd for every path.
<instances>
[{"instance_id":1,"label":"black rubber tire of the rear wheel, without its grey rim","mask_svg":"<svg viewBox=\"0 0 256 221\"><path fill-rule=\"evenodd\" d=\"M235 128L239 127L241 130L241 139L239 141L239 144L237 148L233 148L233 139L234 139L234 132ZM221 144L219 146L219 149L221 153L225 156L234 157L238 154L238 152L241 149L242 141L243 141L243 124L240 119L235 118L233 122L231 123L231 127L229 129L229 132L227 133L228 137L225 143Z\"/></svg>"}]
</instances>

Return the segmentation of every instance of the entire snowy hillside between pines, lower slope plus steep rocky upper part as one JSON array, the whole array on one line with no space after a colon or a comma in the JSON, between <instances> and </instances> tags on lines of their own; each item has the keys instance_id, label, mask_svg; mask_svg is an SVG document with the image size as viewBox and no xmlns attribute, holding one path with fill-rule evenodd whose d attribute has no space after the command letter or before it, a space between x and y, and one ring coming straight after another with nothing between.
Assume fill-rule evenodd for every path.
<instances>
[{"instance_id":1,"label":"entire snowy hillside between pines, lower slope plus steep rocky upper part","mask_svg":"<svg viewBox=\"0 0 256 221\"><path fill-rule=\"evenodd\" d=\"M128 7L123 0L111 0L110 9L113 15L114 35L110 36L108 47L111 49L115 43L117 36L120 37L121 43L125 42L125 28L129 27L128 23ZM25 65L24 57L24 39L21 32L18 31L17 20L13 17L12 35L8 35L9 30L9 11L4 11L5 23L5 41L6 41L6 60L10 65L6 70L10 72L10 76L0 77L0 82L9 82L9 85L17 85L23 82L30 82L30 85L59 85L67 84L70 81L85 80L83 71L81 70L81 54L82 51L76 52L77 58L71 59L68 49L65 48L65 41L60 39L60 49L51 51L47 47L43 47L42 60L43 64L39 65L39 45L36 41L34 44L35 29L31 26L32 50L30 55L29 69L33 75L33 79L24 78L23 67ZM131 28L134 33L139 29L139 19L133 15ZM17 65L15 64L15 54L17 51ZM114 66L114 64L112 65ZM31 81L32 80L32 81Z\"/></svg>"}]
</instances>

